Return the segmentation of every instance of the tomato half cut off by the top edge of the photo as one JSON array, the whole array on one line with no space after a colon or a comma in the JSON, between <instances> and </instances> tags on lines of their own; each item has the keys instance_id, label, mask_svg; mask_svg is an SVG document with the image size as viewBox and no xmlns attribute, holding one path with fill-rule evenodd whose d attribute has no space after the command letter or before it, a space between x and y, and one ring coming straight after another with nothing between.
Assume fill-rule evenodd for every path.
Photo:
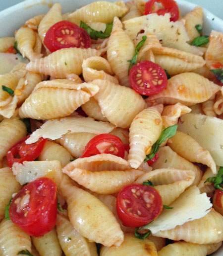
<instances>
[{"instance_id":1,"label":"tomato half cut off by the top edge of the photo","mask_svg":"<svg viewBox=\"0 0 223 256\"><path fill-rule=\"evenodd\" d=\"M155 2L162 4L162 7L159 8ZM149 0L145 4L144 14L151 14L156 12L158 15L164 15L167 12L170 12L170 21L176 21L179 19L179 8L177 3L174 0Z\"/></svg>"}]
</instances>

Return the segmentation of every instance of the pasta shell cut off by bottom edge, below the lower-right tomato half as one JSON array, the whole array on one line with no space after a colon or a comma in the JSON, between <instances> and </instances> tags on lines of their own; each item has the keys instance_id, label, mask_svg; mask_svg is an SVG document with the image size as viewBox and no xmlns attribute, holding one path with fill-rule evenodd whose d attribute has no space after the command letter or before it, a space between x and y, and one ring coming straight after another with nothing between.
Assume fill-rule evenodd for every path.
<instances>
[{"instance_id":1,"label":"pasta shell cut off by bottom edge, below the lower-right tomato half","mask_svg":"<svg viewBox=\"0 0 223 256\"><path fill-rule=\"evenodd\" d=\"M153 242L146 238L140 240L133 234L125 234L124 241L119 247L103 247L100 256L157 256L157 250Z\"/></svg>"}]
</instances>

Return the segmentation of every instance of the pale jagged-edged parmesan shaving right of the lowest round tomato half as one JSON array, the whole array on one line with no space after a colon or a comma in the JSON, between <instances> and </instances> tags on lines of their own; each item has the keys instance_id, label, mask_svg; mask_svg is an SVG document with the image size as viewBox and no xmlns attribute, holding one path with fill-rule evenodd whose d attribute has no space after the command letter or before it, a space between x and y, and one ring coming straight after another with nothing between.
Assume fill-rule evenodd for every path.
<instances>
[{"instance_id":1,"label":"pale jagged-edged parmesan shaving right of the lowest round tomato half","mask_svg":"<svg viewBox=\"0 0 223 256\"><path fill-rule=\"evenodd\" d=\"M153 234L158 231L173 229L185 222L204 217L210 212L212 204L206 193L200 194L199 188L192 186L169 206L173 209L163 209L159 217L144 226L143 229L149 229Z\"/></svg>"}]
</instances>

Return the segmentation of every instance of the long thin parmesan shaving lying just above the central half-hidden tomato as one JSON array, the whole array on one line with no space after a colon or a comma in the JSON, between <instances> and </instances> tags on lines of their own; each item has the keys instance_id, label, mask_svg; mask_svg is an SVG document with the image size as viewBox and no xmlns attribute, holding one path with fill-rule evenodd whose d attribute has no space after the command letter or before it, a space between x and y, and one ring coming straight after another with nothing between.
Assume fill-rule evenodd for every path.
<instances>
[{"instance_id":1,"label":"long thin parmesan shaving lying just above the central half-hidden tomato","mask_svg":"<svg viewBox=\"0 0 223 256\"><path fill-rule=\"evenodd\" d=\"M43 137L44 139L56 140L62 135L74 132L89 132L95 134L110 133L115 128L107 122L95 121L90 117L66 117L61 119L48 120L40 129L37 129L26 140L31 144Z\"/></svg>"}]
</instances>

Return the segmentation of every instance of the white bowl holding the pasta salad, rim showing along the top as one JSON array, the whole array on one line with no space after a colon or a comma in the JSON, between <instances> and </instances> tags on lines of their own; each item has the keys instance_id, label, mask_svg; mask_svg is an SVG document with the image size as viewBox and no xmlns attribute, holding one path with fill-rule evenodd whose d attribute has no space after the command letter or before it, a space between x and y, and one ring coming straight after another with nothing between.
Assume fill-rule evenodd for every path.
<instances>
[{"instance_id":1,"label":"white bowl holding the pasta salad, rim showing along the top","mask_svg":"<svg viewBox=\"0 0 223 256\"><path fill-rule=\"evenodd\" d=\"M0 11L0 37L13 36L14 31L18 29L24 22L38 14L46 13L52 3L60 2L62 12L70 12L93 0L25 0L5 10ZM115 0L110 0L114 2ZM126 0L124 0L126 1ZM176 0L180 9L181 16L194 9L193 3ZM223 32L223 20L204 9L204 33L209 34L212 29ZM223 247L213 256L223 256Z\"/></svg>"}]
</instances>

